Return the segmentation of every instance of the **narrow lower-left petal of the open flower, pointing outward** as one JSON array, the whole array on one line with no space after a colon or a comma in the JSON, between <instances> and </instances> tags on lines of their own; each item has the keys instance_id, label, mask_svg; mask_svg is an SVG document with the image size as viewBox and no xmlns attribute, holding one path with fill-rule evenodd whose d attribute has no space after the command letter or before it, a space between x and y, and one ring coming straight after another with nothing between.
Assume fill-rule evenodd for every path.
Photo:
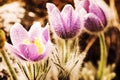
<instances>
[{"instance_id":1,"label":"narrow lower-left petal of the open flower, pointing outward","mask_svg":"<svg viewBox=\"0 0 120 80\"><path fill-rule=\"evenodd\" d=\"M10 50L11 53L15 54L16 56L18 56L20 59L22 60L27 60L21 52L19 52L19 50L17 50L14 46L12 46L11 44L9 43L5 43L5 48Z\"/></svg>"}]
</instances>

